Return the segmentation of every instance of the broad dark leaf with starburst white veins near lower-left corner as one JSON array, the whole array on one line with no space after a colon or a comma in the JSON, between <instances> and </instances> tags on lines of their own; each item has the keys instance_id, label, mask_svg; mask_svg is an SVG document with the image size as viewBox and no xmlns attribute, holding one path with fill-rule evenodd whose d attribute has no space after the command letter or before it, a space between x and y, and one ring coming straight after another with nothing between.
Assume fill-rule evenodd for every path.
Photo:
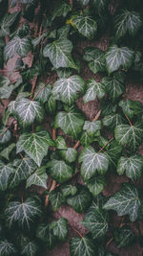
<instances>
[{"instance_id":1,"label":"broad dark leaf with starburst white veins near lower-left corner","mask_svg":"<svg viewBox=\"0 0 143 256\"><path fill-rule=\"evenodd\" d=\"M16 222L20 227L31 228L31 223L42 214L40 201L36 198L27 198L24 202L10 201L5 216L9 227Z\"/></svg>"}]
</instances>

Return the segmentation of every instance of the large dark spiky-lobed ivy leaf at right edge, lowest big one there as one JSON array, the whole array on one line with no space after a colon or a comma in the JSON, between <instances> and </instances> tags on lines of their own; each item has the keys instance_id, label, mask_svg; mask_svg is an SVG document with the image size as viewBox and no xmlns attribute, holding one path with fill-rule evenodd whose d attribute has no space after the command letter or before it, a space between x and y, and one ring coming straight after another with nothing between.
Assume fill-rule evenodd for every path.
<instances>
[{"instance_id":1,"label":"large dark spiky-lobed ivy leaf at right edge, lowest big one there","mask_svg":"<svg viewBox=\"0 0 143 256\"><path fill-rule=\"evenodd\" d=\"M116 211L118 216L129 214L131 221L136 220L139 207L140 200L137 190L131 184L123 184L122 189L103 206L106 210Z\"/></svg>"}]
</instances>

